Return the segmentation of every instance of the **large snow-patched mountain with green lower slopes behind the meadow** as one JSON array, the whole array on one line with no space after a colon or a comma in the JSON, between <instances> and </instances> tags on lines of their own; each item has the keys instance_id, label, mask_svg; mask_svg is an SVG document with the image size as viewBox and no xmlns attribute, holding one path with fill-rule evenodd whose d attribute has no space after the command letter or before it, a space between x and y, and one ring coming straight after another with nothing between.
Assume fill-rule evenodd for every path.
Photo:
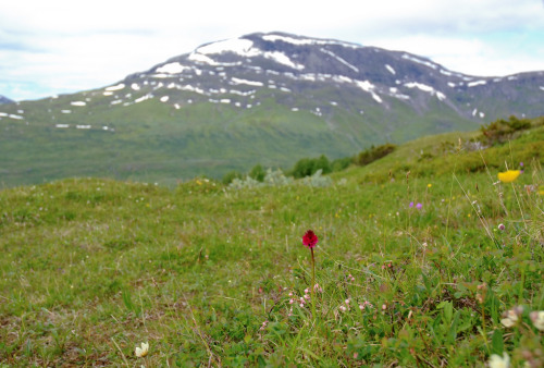
<instances>
[{"instance_id":1,"label":"large snow-patched mountain with green lower slopes behind the meadow","mask_svg":"<svg viewBox=\"0 0 544 368\"><path fill-rule=\"evenodd\" d=\"M72 175L172 183L542 115L544 72L479 77L404 51L257 33L0 111L7 185Z\"/></svg>"}]
</instances>

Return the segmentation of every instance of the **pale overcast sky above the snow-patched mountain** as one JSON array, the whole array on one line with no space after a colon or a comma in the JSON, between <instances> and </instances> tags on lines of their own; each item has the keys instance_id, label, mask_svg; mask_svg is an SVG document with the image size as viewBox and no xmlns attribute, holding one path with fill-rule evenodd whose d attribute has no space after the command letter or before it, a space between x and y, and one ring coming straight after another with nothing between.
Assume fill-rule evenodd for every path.
<instances>
[{"instance_id":1,"label":"pale overcast sky above the snow-patched mountain","mask_svg":"<svg viewBox=\"0 0 544 368\"><path fill-rule=\"evenodd\" d=\"M99 88L202 44L272 30L472 75L544 70L543 0L0 0L0 95Z\"/></svg>"}]
</instances>

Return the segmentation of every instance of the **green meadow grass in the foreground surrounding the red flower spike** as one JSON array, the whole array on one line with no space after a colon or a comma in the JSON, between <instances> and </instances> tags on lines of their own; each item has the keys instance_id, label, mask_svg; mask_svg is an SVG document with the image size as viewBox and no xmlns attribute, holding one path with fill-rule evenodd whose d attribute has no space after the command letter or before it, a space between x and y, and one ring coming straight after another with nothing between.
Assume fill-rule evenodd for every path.
<instances>
[{"instance_id":1,"label":"green meadow grass in the foreground surrounding the red flower spike","mask_svg":"<svg viewBox=\"0 0 544 368\"><path fill-rule=\"evenodd\" d=\"M3 189L0 361L478 366L506 352L537 365L544 335L529 314L544 309L544 172L522 148L539 134L491 151L514 169L523 158L511 184L496 183L504 165L466 170L463 149L425 158L449 159L441 174L418 169L406 152L438 147L434 137L326 187L234 191L200 177L175 189L106 179ZM411 173L370 180L395 168ZM300 307L308 229L319 237L316 314Z\"/></svg>"}]
</instances>

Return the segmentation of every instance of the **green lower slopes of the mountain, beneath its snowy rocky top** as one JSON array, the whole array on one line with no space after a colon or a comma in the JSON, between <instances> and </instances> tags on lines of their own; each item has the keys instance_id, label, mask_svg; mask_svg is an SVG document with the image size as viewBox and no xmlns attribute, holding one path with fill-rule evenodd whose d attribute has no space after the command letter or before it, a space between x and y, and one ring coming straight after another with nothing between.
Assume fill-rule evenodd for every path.
<instances>
[{"instance_id":1,"label":"green lower slopes of the mountain, beneath its snowy rocky top","mask_svg":"<svg viewBox=\"0 0 544 368\"><path fill-rule=\"evenodd\" d=\"M135 91L132 98L147 93ZM322 93L320 98L342 98L350 108L327 103L318 115L311 97L294 99L281 91L257 93L259 105L251 109L208 101L176 109L157 98L112 106L113 97L101 90L3 106L3 114L22 119L0 116L0 185L101 176L175 186L197 175L221 179L257 163L287 168L302 157L334 159L371 144L478 126L445 106L433 106L422 116L393 99L392 111L374 103L361 114L355 97L337 96L345 93L334 88ZM279 105L287 98L294 99L290 105Z\"/></svg>"}]
</instances>

